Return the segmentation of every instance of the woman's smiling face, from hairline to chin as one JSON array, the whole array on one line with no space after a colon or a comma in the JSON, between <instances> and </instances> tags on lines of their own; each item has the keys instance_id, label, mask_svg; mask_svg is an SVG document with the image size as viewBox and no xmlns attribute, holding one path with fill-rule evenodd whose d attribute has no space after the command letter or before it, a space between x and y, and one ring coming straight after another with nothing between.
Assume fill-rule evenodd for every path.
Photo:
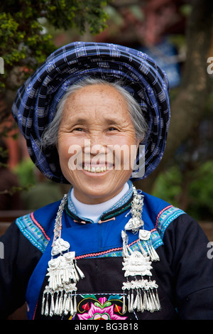
<instances>
[{"instance_id":1,"label":"woman's smiling face, from hairline to chin","mask_svg":"<svg viewBox=\"0 0 213 334\"><path fill-rule=\"evenodd\" d=\"M139 142L124 97L88 85L67 98L58 131L62 173L82 203L117 195L129 180Z\"/></svg>"}]
</instances>

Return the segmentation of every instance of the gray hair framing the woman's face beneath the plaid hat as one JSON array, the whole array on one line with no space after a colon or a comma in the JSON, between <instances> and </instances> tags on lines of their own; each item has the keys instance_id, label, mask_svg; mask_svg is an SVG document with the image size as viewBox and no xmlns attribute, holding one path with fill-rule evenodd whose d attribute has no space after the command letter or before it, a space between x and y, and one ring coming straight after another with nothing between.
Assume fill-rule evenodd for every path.
<instances>
[{"instance_id":1,"label":"gray hair framing the woman's face beneath the plaid hat","mask_svg":"<svg viewBox=\"0 0 213 334\"><path fill-rule=\"evenodd\" d=\"M42 148L53 147L57 145L58 130L67 98L70 97L73 92L76 92L77 90L80 90L80 88L86 87L87 85L110 85L111 87L114 87L116 90L118 90L118 92L120 92L120 94L127 102L129 114L131 116L134 129L136 130L136 139L142 141L145 138L148 124L145 117L143 116L143 110L141 109L136 99L127 90L125 90L124 87L119 84L119 82L107 82L106 80L102 79L86 77L81 82L77 82L76 84L70 86L62 99L60 99L53 121L43 132L43 136L41 138Z\"/></svg>"}]
</instances>

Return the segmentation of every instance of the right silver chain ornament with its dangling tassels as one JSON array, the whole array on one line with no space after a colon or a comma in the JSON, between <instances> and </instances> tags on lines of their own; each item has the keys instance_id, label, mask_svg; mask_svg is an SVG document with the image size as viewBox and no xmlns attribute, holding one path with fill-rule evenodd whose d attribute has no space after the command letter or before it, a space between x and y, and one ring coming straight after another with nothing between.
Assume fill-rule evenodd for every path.
<instances>
[{"instance_id":1,"label":"right silver chain ornament with its dangling tassels","mask_svg":"<svg viewBox=\"0 0 213 334\"><path fill-rule=\"evenodd\" d=\"M143 227L142 210L143 195L137 193L133 187L133 201L131 205L131 219L125 225L125 231L121 232L123 239L123 270L126 282L123 283L123 291L128 291L128 311L160 311L160 301L158 297L158 284L151 281L152 262L159 261L158 253L155 252L151 244L151 232L141 229ZM133 234L138 233L138 250L133 251L128 245L128 235L126 230L131 230ZM145 249L143 248L144 245ZM147 251L147 252L146 252ZM145 276L147 279L145 279ZM132 278L131 281L129 278ZM125 303L125 296L123 296ZM126 306L123 307L125 313Z\"/></svg>"}]
</instances>

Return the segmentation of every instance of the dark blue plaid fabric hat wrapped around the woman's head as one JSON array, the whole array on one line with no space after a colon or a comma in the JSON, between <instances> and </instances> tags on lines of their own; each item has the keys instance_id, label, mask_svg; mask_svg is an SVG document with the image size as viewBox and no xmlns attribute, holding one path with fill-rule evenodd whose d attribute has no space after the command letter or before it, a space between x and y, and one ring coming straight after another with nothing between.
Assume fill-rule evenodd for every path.
<instances>
[{"instance_id":1,"label":"dark blue plaid fabric hat wrapped around the woman's head","mask_svg":"<svg viewBox=\"0 0 213 334\"><path fill-rule=\"evenodd\" d=\"M53 181L67 183L56 148L40 148L40 138L70 85L84 77L122 80L143 109L148 122L145 158L138 153L138 170L131 179L146 178L163 157L170 121L168 79L152 58L141 51L108 43L75 42L59 48L19 88L12 113L28 153L40 171ZM140 163L142 158L143 163ZM142 175L140 171L144 171Z\"/></svg>"}]
</instances>

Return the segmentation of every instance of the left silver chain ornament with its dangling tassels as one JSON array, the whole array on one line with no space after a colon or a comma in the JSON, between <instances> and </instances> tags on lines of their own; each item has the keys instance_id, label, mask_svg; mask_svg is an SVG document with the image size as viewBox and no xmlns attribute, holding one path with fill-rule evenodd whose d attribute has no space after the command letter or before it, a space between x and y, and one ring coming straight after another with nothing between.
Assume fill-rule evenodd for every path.
<instances>
[{"instance_id":1,"label":"left silver chain ornament with its dangling tassels","mask_svg":"<svg viewBox=\"0 0 213 334\"><path fill-rule=\"evenodd\" d=\"M77 281L84 279L82 270L77 266L75 252L69 252L69 242L60 237L61 217L67 201L64 196L55 219L54 239L48 262L48 285L43 291L41 314L44 316L75 316L77 312Z\"/></svg>"}]
</instances>

